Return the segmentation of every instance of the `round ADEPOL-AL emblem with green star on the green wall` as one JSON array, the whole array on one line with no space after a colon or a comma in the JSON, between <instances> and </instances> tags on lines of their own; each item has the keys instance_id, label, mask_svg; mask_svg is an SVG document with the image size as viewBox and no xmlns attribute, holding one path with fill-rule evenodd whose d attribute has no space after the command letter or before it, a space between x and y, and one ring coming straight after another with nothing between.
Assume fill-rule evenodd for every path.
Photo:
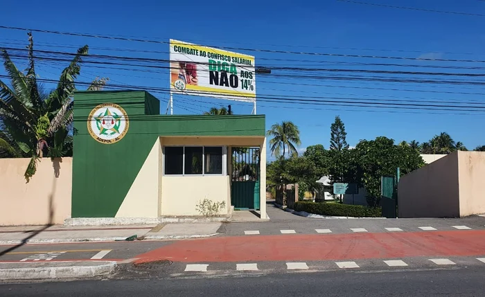
<instances>
[{"instance_id":1,"label":"round ADEPOL-AL emblem with green star on the green wall","mask_svg":"<svg viewBox=\"0 0 485 297\"><path fill-rule=\"evenodd\" d=\"M125 109L113 103L94 107L87 117L87 131L100 143L121 141L130 127Z\"/></svg>"}]
</instances>

